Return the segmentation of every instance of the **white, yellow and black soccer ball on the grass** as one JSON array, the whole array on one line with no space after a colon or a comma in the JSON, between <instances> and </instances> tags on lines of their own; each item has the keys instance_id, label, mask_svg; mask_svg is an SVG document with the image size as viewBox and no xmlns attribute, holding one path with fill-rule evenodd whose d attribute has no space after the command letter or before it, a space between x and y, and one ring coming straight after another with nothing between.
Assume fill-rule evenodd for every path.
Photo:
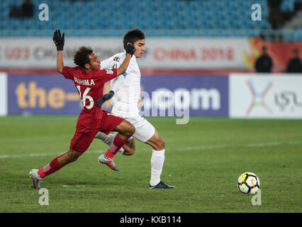
<instances>
[{"instance_id":1,"label":"white, yellow and black soccer ball on the grass","mask_svg":"<svg viewBox=\"0 0 302 227\"><path fill-rule=\"evenodd\" d=\"M238 178L238 189L245 194L255 194L260 187L260 180L252 172L245 172Z\"/></svg>"}]
</instances>

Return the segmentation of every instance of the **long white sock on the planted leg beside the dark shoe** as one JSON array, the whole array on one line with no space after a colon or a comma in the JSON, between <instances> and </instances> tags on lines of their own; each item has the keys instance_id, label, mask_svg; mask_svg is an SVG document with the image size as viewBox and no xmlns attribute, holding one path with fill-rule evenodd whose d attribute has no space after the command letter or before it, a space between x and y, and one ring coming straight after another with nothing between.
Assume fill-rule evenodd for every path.
<instances>
[{"instance_id":1,"label":"long white sock on the planted leg beside the dark shoe","mask_svg":"<svg viewBox=\"0 0 302 227\"><path fill-rule=\"evenodd\" d=\"M151 156L151 179L150 185L155 186L160 183L160 175L164 166L164 150L152 150Z\"/></svg>"}]
</instances>

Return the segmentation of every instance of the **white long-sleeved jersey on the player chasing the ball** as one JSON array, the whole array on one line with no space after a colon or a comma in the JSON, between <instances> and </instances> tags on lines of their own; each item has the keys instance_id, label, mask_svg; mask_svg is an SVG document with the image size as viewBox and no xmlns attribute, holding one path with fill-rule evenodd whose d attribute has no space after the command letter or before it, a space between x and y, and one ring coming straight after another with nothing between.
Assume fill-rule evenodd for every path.
<instances>
[{"instance_id":1,"label":"white long-sleeved jersey on the player chasing the ball","mask_svg":"<svg viewBox=\"0 0 302 227\"><path fill-rule=\"evenodd\" d=\"M125 52L120 52L101 62L101 70L111 70L121 66L125 60ZM126 70L126 76L123 75L111 80L113 83L121 79L122 82L115 91L111 99L113 105L112 113L123 118L133 118L139 116L138 101L140 99L140 68L136 62L136 57L131 57Z\"/></svg>"}]
</instances>

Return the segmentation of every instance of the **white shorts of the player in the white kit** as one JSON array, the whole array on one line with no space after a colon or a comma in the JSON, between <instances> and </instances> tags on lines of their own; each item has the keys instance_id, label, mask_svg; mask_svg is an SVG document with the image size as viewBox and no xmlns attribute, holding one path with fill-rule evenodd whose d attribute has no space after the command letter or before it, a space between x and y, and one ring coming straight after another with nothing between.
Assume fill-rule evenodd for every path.
<instances>
[{"instance_id":1,"label":"white shorts of the player in the white kit","mask_svg":"<svg viewBox=\"0 0 302 227\"><path fill-rule=\"evenodd\" d=\"M133 118L123 117L125 120L129 121L135 127L135 133L132 135L135 139L140 140L140 142L145 143L155 133L155 128L152 124L147 121L142 116L135 116Z\"/></svg>"}]
</instances>

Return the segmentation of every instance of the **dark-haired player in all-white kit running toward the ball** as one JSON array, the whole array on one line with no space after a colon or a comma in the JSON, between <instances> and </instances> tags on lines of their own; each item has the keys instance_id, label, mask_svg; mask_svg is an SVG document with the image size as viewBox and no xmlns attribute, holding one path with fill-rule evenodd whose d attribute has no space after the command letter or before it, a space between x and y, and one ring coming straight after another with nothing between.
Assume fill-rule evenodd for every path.
<instances>
[{"instance_id":1,"label":"dark-haired player in all-white kit running toward the ball","mask_svg":"<svg viewBox=\"0 0 302 227\"><path fill-rule=\"evenodd\" d=\"M124 75L111 80L111 92L105 94L104 101L111 98L113 109L112 114L121 116L125 120L135 126L135 133L133 138L128 140L123 148L120 150L124 155L133 155L135 153L135 140L140 140L142 143L147 143L152 146L151 156L151 177L149 189L172 189L174 186L164 184L161 181L162 167L164 165L164 140L160 134L155 130L154 126L144 117L139 115L138 101L140 99L140 68L136 59L141 57L145 52L145 35L138 28L134 28L125 33L123 38L124 47L131 43L135 46L135 53L131 57L128 69ZM101 70L111 70L119 67L125 59L125 52L120 52L107 60L101 62ZM114 95L113 95L114 94ZM111 145L116 133L108 134L99 132L96 138L104 141L104 143ZM104 157L104 155L101 155ZM100 156L100 157L101 157ZM99 157L99 158L100 158Z\"/></svg>"}]
</instances>

